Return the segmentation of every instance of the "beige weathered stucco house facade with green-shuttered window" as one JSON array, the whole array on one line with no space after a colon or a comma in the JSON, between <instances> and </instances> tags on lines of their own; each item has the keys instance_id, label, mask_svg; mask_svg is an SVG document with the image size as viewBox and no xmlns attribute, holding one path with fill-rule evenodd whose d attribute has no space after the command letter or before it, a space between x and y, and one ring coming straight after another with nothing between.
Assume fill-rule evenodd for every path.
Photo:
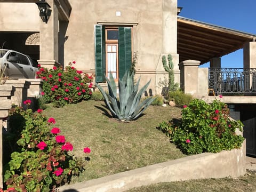
<instances>
[{"instance_id":1,"label":"beige weathered stucco house facade with green-shuttered window","mask_svg":"<svg viewBox=\"0 0 256 192\"><path fill-rule=\"evenodd\" d=\"M135 77L141 77L141 84L151 79L148 91L153 94L161 93L168 77L162 56L171 54L179 82L177 1L47 0L47 23L36 2L0 1L0 45L5 49L29 54L46 67L75 60L77 69L95 74L103 84L110 71L122 78L137 54Z\"/></svg>"}]
</instances>

